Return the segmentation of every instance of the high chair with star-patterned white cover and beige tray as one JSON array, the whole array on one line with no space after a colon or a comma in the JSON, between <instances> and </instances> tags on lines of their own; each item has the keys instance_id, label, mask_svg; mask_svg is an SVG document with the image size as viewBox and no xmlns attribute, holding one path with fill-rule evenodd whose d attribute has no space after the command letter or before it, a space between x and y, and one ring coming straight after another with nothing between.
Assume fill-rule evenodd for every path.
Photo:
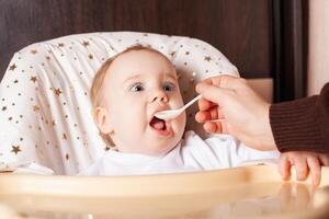
<instances>
[{"instance_id":1,"label":"high chair with star-patterned white cover and beige tray","mask_svg":"<svg viewBox=\"0 0 329 219\"><path fill-rule=\"evenodd\" d=\"M184 102L196 95L197 81L222 73L238 76L220 51L190 37L91 33L23 48L12 58L0 85L0 201L41 218L327 214L326 168L316 191L309 181L283 182L276 166L269 164L181 174L73 176L109 150L92 118L93 76L107 58L135 44L158 49L173 62ZM195 112L195 105L188 110L186 129L206 136L194 122ZM299 196L306 203L297 206Z\"/></svg>"}]
</instances>

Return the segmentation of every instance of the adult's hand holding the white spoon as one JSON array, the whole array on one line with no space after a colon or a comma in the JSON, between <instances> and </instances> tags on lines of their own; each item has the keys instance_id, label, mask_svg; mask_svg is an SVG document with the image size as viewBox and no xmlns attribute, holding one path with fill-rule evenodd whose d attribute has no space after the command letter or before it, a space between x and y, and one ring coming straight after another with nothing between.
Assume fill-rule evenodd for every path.
<instances>
[{"instance_id":1,"label":"adult's hand holding the white spoon","mask_svg":"<svg viewBox=\"0 0 329 219\"><path fill-rule=\"evenodd\" d=\"M204 129L213 134L230 134L250 148L275 150L270 125L270 104L260 97L242 78L218 76L196 84L202 94L195 115ZM213 119L225 118L214 123Z\"/></svg>"}]
</instances>

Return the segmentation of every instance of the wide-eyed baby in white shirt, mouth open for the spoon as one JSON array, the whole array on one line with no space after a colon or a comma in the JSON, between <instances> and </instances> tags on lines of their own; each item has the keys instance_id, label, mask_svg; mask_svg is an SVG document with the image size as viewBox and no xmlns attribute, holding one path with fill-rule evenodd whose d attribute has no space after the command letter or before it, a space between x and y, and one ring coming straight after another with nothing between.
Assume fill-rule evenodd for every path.
<instances>
[{"instance_id":1,"label":"wide-eyed baby in white shirt, mouth open for the spoon","mask_svg":"<svg viewBox=\"0 0 329 219\"><path fill-rule=\"evenodd\" d=\"M110 58L91 88L93 114L109 150L84 175L129 175L226 169L276 160L231 136L201 139L186 131L185 113L161 120L157 112L183 106L175 68L161 53L133 46Z\"/></svg>"}]
</instances>

